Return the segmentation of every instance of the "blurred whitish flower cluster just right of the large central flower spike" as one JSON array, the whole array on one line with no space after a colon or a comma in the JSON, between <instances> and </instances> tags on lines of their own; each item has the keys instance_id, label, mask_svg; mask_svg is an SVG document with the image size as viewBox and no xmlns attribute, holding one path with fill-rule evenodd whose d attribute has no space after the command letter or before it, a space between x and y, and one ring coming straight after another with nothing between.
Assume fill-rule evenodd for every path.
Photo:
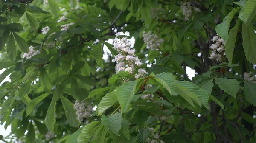
<instances>
[{"instance_id":1,"label":"blurred whitish flower cluster just right of the large central flower spike","mask_svg":"<svg viewBox=\"0 0 256 143\"><path fill-rule=\"evenodd\" d=\"M157 50L160 48L160 44L163 43L163 39L159 39L157 34L152 34L151 31L146 33L145 31L143 32L143 41L146 43L147 48L151 50Z\"/></svg>"}]
</instances>

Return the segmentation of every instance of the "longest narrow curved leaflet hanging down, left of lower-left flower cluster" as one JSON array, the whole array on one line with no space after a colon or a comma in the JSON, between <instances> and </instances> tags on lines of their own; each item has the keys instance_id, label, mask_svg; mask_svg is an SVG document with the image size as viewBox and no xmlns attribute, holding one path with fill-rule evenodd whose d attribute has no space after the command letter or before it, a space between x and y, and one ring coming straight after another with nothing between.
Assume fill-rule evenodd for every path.
<instances>
[{"instance_id":1,"label":"longest narrow curved leaflet hanging down, left of lower-left flower cluster","mask_svg":"<svg viewBox=\"0 0 256 143\"><path fill-rule=\"evenodd\" d=\"M59 85L57 87L57 89L55 90L55 92L53 94L51 104L47 110L47 114L45 117L45 125L51 132L54 132L54 124L56 123L56 118L55 118L56 102L61 97L63 90L64 90L63 85Z\"/></svg>"}]
</instances>

